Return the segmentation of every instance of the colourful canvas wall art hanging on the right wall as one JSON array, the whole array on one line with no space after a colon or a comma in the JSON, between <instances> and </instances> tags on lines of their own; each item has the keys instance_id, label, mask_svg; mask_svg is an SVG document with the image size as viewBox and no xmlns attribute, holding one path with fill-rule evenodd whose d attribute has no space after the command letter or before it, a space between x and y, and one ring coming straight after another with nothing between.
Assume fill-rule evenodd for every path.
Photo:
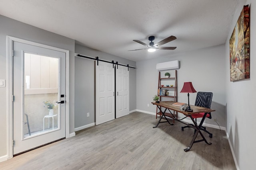
<instances>
[{"instance_id":1,"label":"colourful canvas wall art hanging on the right wall","mask_svg":"<svg viewBox=\"0 0 256 170\"><path fill-rule=\"evenodd\" d=\"M230 81L250 78L250 8L244 6L229 40Z\"/></svg>"}]
</instances>

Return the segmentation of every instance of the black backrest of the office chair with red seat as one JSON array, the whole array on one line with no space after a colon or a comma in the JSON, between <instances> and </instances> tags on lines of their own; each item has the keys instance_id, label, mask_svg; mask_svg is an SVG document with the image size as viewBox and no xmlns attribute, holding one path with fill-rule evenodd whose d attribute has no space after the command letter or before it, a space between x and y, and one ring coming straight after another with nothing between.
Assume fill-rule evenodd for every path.
<instances>
[{"instance_id":1,"label":"black backrest of the office chair with red seat","mask_svg":"<svg viewBox=\"0 0 256 170\"><path fill-rule=\"evenodd\" d=\"M210 108L212 104L212 92L197 92L195 106ZM211 113L208 113L212 119Z\"/></svg>"}]
</instances>

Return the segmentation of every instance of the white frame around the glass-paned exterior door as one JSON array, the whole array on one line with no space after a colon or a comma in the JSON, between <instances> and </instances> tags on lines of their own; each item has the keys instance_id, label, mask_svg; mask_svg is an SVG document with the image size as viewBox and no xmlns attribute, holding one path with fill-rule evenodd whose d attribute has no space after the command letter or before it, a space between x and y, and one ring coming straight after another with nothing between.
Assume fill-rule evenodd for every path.
<instances>
[{"instance_id":1,"label":"white frame around the glass-paned exterior door","mask_svg":"<svg viewBox=\"0 0 256 170\"><path fill-rule=\"evenodd\" d=\"M6 36L6 61L7 61L7 159L13 157L13 42L24 43L28 45L34 45L37 47L42 47L46 49L51 49L55 51L61 51L66 54L66 113L65 113L65 136L70 137L69 134L69 51L65 49L60 49L52 47L49 45L44 45L40 43L35 43L32 41Z\"/></svg>"}]
</instances>

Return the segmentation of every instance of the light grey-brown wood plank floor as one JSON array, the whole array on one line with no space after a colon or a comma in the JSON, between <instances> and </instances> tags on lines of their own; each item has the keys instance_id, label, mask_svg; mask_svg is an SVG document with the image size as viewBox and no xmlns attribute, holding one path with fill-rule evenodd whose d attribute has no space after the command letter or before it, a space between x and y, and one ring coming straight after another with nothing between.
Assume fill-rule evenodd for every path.
<instances>
[{"instance_id":1,"label":"light grey-brown wood plank floor","mask_svg":"<svg viewBox=\"0 0 256 170\"><path fill-rule=\"evenodd\" d=\"M184 152L194 130L155 115L134 112L76 132L75 137L1 162L4 170L235 170L225 131L208 128L212 145L194 143ZM199 139L199 138L198 138Z\"/></svg>"}]
</instances>

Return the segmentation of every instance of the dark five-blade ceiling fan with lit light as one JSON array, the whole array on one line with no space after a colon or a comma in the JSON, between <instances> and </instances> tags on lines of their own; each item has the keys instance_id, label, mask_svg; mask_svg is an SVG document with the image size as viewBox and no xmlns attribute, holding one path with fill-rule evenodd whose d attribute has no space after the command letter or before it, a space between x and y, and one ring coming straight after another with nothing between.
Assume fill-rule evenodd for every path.
<instances>
[{"instance_id":1,"label":"dark five-blade ceiling fan with lit light","mask_svg":"<svg viewBox=\"0 0 256 170\"><path fill-rule=\"evenodd\" d=\"M137 42L137 43L140 43L140 44L142 44L142 45L148 47L148 48L136 49L136 50L146 50L146 49L148 49L148 52L154 52L154 51L156 51L156 49L174 50L174 49L177 48L177 47L160 47L160 45L164 45L164 44L166 44L166 43L168 43L168 42L170 42L170 41L175 40L175 39L176 39L175 36L172 36L172 35L171 35L170 37L167 37L166 39L163 39L162 41L160 41L160 42L158 42L158 43L156 43L156 44L154 44L154 42L152 42L154 39L155 39L155 36L150 36L150 37L148 37L148 40L151 41L151 42L149 43L149 45L146 44L146 43L143 43L143 42L140 41L140 40L134 39L133 41L135 41L135 42ZM136 51L136 50L128 50L128 51Z\"/></svg>"}]
</instances>

